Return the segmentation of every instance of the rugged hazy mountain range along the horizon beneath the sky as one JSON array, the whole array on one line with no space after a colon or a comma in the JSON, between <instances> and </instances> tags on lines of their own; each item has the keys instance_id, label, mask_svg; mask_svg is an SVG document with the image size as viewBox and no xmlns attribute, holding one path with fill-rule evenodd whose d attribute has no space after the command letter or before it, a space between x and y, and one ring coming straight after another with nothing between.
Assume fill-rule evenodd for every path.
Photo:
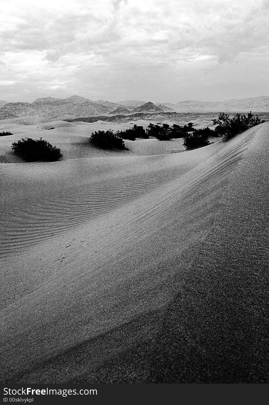
<instances>
[{"instance_id":1,"label":"rugged hazy mountain range along the horizon beneath the sky","mask_svg":"<svg viewBox=\"0 0 269 405\"><path fill-rule=\"evenodd\" d=\"M180 101L172 103L125 100L110 102L89 100L80 96L68 98L37 98L33 102L7 102L0 100L0 119L70 119L98 115L128 115L134 113L203 113L203 112L268 112L269 97L261 96L225 101Z\"/></svg>"}]
</instances>

